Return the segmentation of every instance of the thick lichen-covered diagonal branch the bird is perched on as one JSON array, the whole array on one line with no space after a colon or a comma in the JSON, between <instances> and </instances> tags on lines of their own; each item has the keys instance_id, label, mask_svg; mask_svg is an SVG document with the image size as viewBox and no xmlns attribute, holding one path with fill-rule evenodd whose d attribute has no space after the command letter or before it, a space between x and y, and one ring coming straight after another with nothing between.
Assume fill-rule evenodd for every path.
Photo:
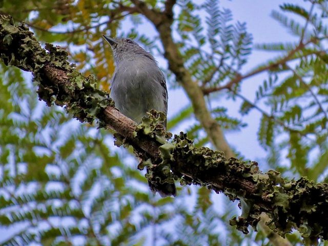
<instances>
[{"instance_id":1,"label":"thick lichen-covered diagonal branch the bird is perched on","mask_svg":"<svg viewBox=\"0 0 328 246\"><path fill-rule=\"evenodd\" d=\"M250 225L256 229L265 212L270 217L267 226L280 235L297 229L308 245L328 239L327 184L306 178L289 181L275 171L262 173L256 162L227 159L221 152L196 148L183 133L164 144L156 140L155 131L136 136L136 124L113 107L106 92L96 89L93 77L75 71L60 47L46 45L46 49L26 26L15 26L11 17L0 15L0 58L7 66L32 72L40 99L48 105L65 106L80 121L99 120L101 126L124 136L143 157L151 157L158 167L155 171L169 167L173 177L185 185L206 186L240 200L243 213L231 224L244 233Z\"/></svg>"}]
</instances>

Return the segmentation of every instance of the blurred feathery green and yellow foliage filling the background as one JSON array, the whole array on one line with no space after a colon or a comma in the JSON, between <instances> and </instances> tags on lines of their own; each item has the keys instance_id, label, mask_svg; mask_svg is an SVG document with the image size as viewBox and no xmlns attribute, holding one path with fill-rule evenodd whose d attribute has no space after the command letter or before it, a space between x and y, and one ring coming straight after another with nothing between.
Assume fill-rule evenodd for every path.
<instances>
[{"instance_id":1,"label":"blurred feathery green and yellow foliage filling the background","mask_svg":"<svg viewBox=\"0 0 328 246\"><path fill-rule=\"evenodd\" d=\"M144 2L158 11L165 4ZM254 46L246 24L216 0L178 0L173 32L186 68L226 132L242 131L242 117L258 111L258 142L267 153L262 165L288 178L326 181L328 4L305 2L309 9L300 1L272 12L298 37L297 43L268 40ZM101 38L105 32L134 38L166 64L158 33L140 31L148 20L127 0L2 0L0 11L26 22L43 44L66 47L77 69L93 74L104 90L114 71L111 50ZM241 73L254 48L277 52L277 57ZM180 88L163 67L169 88ZM80 124L61 108L46 107L29 74L0 69L2 245L270 244L261 232L243 235L229 226L240 212L223 195L180 187L174 199L154 196L135 158L113 146L110 132ZM259 73L267 79L252 101L240 87ZM222 99L241 99L240 114L229 115L218 106ZM211 146L191 106L169 118L168 127L173 132L183 128L197 146ZM301 244L297 232L287 237Z\"/></svg>"}]
</instances>

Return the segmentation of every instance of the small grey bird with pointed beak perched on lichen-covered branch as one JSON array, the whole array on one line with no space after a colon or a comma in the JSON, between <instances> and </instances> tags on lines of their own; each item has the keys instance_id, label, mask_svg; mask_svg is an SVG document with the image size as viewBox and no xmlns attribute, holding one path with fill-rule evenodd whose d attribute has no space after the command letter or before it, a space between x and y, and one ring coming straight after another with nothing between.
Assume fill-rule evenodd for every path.
<instances>
[{"instance_id":1,"label":"small grey bird with pointed beak perched on lichen-covered branch","mask_svg":"<svg viewBox=\"0 0 328 246\"><path fill-rule=\"evenodd\" d=\"M154 56L129 38L103 36L113 50L115 72L110 97L115 107L136 122L152 109L167 115L166 80ZM166 121L163 126L166 128ZM174 183L149 182L149 186L162 197L176 195Z\"/></svg>"}]
</instances>

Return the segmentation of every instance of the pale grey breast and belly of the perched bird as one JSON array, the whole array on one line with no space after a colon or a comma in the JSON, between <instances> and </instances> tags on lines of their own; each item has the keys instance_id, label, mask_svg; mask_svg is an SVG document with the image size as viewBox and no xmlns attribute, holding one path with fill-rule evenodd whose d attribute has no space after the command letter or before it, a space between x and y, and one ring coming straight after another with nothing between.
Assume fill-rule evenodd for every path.
<instances>
[{"instance_id":1,"label":"pale grey breast and belly of the perched bird","mask_svg":"<svg viewBox=\"0 0 328 246\"><path fill-rule=\"evenodd\" d=\"M157 81L157 73L157 66L149 63L131 60L119 64L110 93L116 108L136 122L151 109L166 112L163 88Z\"/></svg>"}]
</instances>

